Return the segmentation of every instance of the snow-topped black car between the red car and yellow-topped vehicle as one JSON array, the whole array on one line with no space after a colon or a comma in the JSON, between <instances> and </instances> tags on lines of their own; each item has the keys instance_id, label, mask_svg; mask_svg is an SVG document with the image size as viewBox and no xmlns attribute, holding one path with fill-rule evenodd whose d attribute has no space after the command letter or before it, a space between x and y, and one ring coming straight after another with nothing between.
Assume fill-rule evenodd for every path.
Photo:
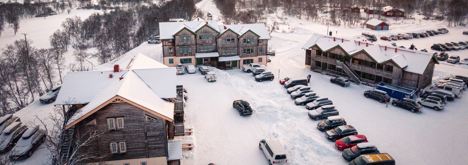
<instances>
[{"instance_id":1,"label":"snow-topped black car between the red car and yellow-topped vehicle","mask_svg":"<svg viewBox=\"0 0 468 165\"><path fill-rule=\"evenodd\" d=\"M359 143L351 148L343 150L341 154L344 159L351 161L358 158L359 155L380 153L379 149L371 142Z\"/></svg>"}]
</instances>

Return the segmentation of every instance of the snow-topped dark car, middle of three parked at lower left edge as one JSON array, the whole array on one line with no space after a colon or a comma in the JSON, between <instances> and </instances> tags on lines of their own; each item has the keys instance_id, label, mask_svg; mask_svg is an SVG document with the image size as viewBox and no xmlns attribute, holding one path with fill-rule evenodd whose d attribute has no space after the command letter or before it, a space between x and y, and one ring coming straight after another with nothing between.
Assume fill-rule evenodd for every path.
<instances>
[{"instance_id":1,"label":"snow-topped dark car, middle of three parked at lower left edge","mask_svg":"<svg viewBox=\"0 0 468 165\"><path fill-rule=\"evenodd\" d=\"M7 126L0 133L0 153L9 151L15 143L20 139L24 131L28 129L28 126L21 122L14 122Z\"/></svg>"}]
</instances>

